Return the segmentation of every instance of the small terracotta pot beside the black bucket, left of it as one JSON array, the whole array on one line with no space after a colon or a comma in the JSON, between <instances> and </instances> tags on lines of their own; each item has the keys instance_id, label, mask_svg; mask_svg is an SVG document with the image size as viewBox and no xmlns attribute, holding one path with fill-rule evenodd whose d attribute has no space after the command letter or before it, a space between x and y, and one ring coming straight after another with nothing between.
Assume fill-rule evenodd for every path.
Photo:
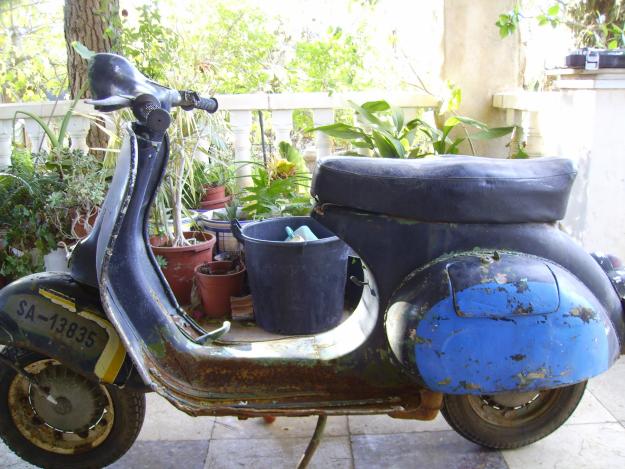
<instances>
[{"instance_id":1,"label":"small terracotta pot beside the black bucket, left of it","mask_svg":"<svg viewBox=\"0 0 625 469\"><path fill-rule=\"evenodd\" d=\"M245 267L229 273L231 270L232 261L207 262L195 268L195 285L202 299L202 309L209 318L229 315L230 297L241 293Z\"/></svg>"}]
</instances>

